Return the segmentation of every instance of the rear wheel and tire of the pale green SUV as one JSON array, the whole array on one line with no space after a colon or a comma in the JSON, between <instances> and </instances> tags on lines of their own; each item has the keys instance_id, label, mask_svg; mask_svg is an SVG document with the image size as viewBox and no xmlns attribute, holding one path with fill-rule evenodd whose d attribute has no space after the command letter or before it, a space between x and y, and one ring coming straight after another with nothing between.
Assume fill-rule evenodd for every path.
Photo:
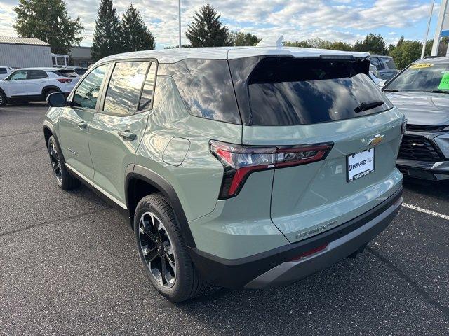
<instances>
[{"instance_id":1,"label":"rear wheel and tire of the pale green SUV","mask_svg":"<svg viewBox=\"0 0 449 336\"><path fill-rule=\"evenodd\" d=\"M134 232L142 267L161 295L171 302L182 302L206 288L207 283L187 252L173 209L163 195L156 193L140 200L135 209ZM166 276L161 276L162 265Z\"/></svg>"}]
</instances>

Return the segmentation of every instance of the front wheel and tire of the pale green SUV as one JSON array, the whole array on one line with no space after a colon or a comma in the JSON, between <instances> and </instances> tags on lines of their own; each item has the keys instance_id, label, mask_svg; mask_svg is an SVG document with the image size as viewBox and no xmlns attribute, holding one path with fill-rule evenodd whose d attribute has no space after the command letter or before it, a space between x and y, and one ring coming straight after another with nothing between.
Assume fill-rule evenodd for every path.
<instances>
[{"instance_id":1,"label":"front wheel and tire of the pale green SUV","mask_svg":"<svg viewBox=\"0 0 449 336\"><path fill-rule=\"evenodd\" d=\"M55 176L56 183L62 190L70 190L80 186L81 182L74 178L65 167L64 160L58 143L55 141L53 135L48 139L48 155L50 155L51 168Z\"/></svg>"}]
</instances>

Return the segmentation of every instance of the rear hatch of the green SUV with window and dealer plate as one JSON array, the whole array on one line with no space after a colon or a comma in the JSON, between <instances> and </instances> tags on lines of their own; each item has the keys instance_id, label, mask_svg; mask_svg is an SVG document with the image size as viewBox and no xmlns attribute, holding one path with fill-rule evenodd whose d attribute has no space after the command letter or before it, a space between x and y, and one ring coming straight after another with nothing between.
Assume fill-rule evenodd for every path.
<instances>
[{"instance_id":1,"label":"rear hatch of the green SUV with window and dealer plate","mask_svg":"<svg viewBox=\"0 0 449 336\"><path fill-rule=\"evenodd\" d=\"M229 64L243 146L276 148L276 163L267 166L274 169L271 217L290 242L360 216L399 188L403 115L367 76L369 60L278 56Z\"/></svg>"}]
</instances>

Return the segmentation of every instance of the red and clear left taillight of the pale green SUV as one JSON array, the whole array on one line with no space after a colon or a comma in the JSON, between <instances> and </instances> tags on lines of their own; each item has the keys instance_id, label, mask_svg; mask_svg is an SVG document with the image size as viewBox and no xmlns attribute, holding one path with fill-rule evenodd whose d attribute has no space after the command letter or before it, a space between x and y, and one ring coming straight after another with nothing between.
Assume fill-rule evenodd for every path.
<instances>
[{"instance_id":1,"label":"red and clear left taillight of the pale green SUV","mask_svg":"<svg viewBox=\"0 0 449 336\"><path fill-rule=\"evenodd\" d=\"M248 176L260 170L324 160L332 143L298 146L241 146L210 141L210 151L225 167L220 199L237 195Z\"/></svg>"}]
</instances>

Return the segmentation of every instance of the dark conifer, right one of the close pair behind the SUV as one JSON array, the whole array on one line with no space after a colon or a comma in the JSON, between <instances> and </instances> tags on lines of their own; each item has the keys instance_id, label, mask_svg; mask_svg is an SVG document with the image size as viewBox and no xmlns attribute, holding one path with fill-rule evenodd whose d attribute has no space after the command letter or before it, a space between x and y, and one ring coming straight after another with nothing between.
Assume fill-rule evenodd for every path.
<instances>
[{"instance_id":1,"label":"dark conifer, right one of the close pair behind the SUV","mask_svg":"<svg viewBox=\"0 0 449 336\"><path fill-rule=\"evenodd\" d=\"M121 18L120 34L123 52L154 49L154 36L133 3L130 3Z\"/></svg>"}]
</instances>

